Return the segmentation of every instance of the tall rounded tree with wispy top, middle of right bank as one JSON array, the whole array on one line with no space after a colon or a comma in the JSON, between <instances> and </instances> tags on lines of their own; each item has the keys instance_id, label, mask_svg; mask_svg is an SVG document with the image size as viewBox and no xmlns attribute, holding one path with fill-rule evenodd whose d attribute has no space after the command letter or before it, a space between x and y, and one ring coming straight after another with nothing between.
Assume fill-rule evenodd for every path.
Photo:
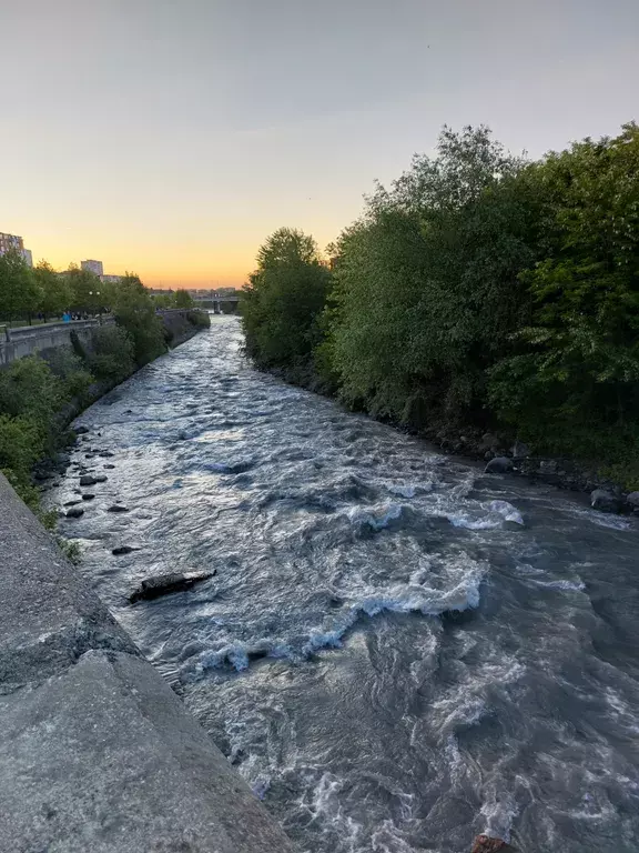
<instances>
[{"instance_id":1,"label":"tall rounded tree with wispy top, middle of right bank","mask_svg":"<svg viewBox=\"0 0 639 853\"><path fill-rule=\"evenodd\" d=\"M414 426L485 417L486 368L525 310L525 163L487 128L445 128L335 247L331 368L343 397Z\"/></svg>"}]
</instances>

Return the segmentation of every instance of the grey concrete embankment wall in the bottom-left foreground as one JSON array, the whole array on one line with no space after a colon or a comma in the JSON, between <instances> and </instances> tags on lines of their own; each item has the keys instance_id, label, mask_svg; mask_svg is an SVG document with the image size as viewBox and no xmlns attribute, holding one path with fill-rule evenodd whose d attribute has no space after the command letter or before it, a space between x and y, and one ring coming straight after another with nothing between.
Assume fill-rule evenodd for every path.
<instances>
[{"instance_id":1,"label":"grey concrete embankment wall in the bottom-left foreground","mask_svg":"<svg viewBox=\"0 0 639 853\"><path fill-rule=\"evenodd\" d=\"M293 846L0 474L0 849Z\"/></svg>"}]
</instances>

